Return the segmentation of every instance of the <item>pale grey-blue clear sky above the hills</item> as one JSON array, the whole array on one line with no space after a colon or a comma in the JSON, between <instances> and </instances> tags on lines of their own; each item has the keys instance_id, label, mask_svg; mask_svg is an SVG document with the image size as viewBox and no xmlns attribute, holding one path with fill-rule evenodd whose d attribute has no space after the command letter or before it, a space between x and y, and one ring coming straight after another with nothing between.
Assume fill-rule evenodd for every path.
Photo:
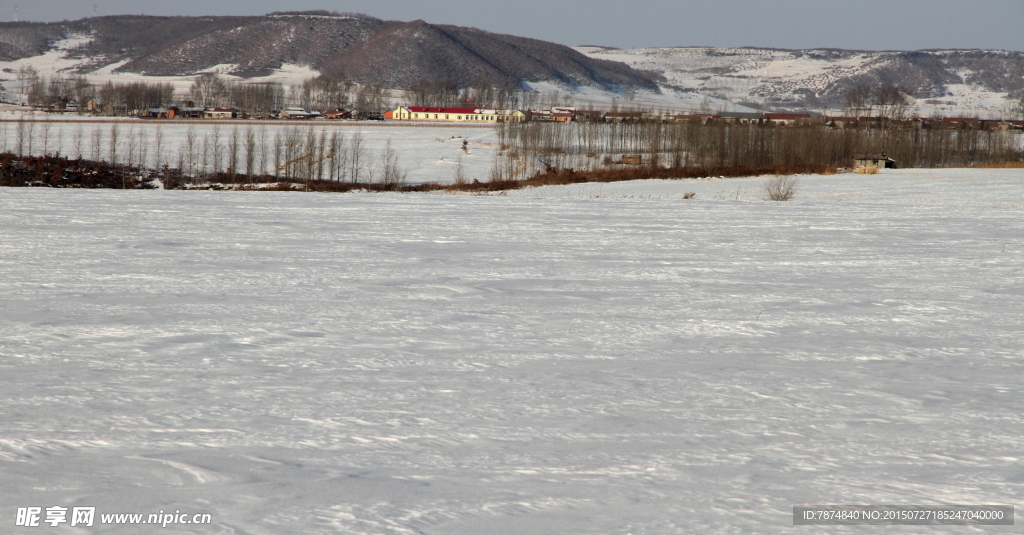
<instances>
[{"instance_id":1,"label":"pale grey-blue clear sky above the hills","mask_svg":"<svg viewBox=\"0 0 1024 535\"><path fill-rule=\"evenodd\" d=\"M329 9L566 45L1024 51L1024 0L0 0L0 20Z\"/></svg>"}]
</instances>

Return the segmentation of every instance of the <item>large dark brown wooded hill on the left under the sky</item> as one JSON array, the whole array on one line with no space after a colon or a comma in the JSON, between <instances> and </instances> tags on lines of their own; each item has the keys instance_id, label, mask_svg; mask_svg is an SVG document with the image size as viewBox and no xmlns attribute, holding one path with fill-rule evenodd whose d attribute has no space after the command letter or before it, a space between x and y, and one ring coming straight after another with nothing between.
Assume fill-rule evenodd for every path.
<instances>
[{"instance_id":1,"label":"large dark brown wooded hill on the left under the sky","mask_svg":"<svg viewBox=\"0 0 1024 535\"><path fill-rule=\"evenodd\" d=\"M117 64L114 72L191 75L214 68L253 77L285 65L308 66L358 83L402 88L427 79L494 85L550 81L657 90L656 77L594 59L555 43L473 28L385 22L332 12L266 16L135 16L0 25L0 59L46 52L55 41L91 37L71 48L76 71ZM226 68L225 68L226 66Z\"/></svg>"}]
</instances>

